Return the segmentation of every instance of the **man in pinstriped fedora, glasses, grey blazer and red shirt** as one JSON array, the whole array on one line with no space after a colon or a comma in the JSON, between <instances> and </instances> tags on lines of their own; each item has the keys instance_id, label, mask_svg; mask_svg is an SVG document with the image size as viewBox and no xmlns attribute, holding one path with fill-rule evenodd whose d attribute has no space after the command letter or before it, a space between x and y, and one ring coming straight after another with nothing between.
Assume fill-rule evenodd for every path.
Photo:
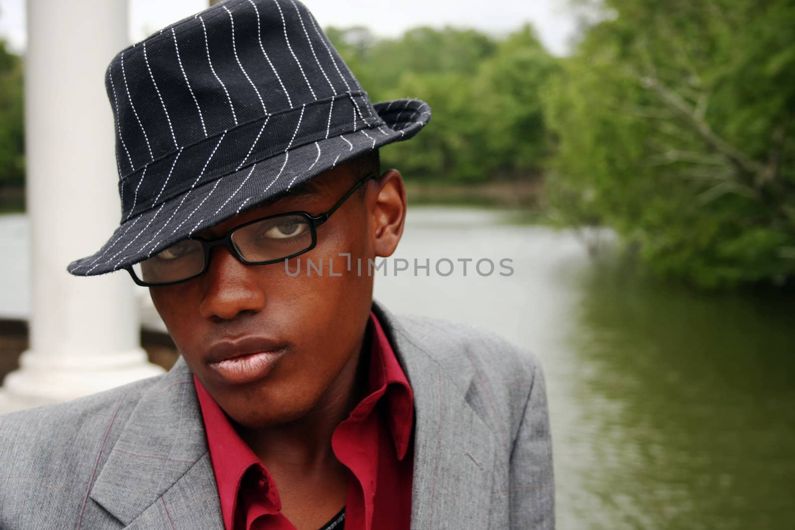
<instances>
[{"instance_id":1,"label":"man in pinstriped fedora, glasses, grey blazer and red shirt","mask_svg":"<svg viewBox=\"0 0 795 530\"><path fill-rule=\"evenodd\" d=\"M148 286L181 357L0 417L0 528L553 528L537 359L372 298L406 214L378 148L425 103L372 105L293 0L177 22L106 82L122 223L68 269Z\"/></svg>"}]
</instances>

